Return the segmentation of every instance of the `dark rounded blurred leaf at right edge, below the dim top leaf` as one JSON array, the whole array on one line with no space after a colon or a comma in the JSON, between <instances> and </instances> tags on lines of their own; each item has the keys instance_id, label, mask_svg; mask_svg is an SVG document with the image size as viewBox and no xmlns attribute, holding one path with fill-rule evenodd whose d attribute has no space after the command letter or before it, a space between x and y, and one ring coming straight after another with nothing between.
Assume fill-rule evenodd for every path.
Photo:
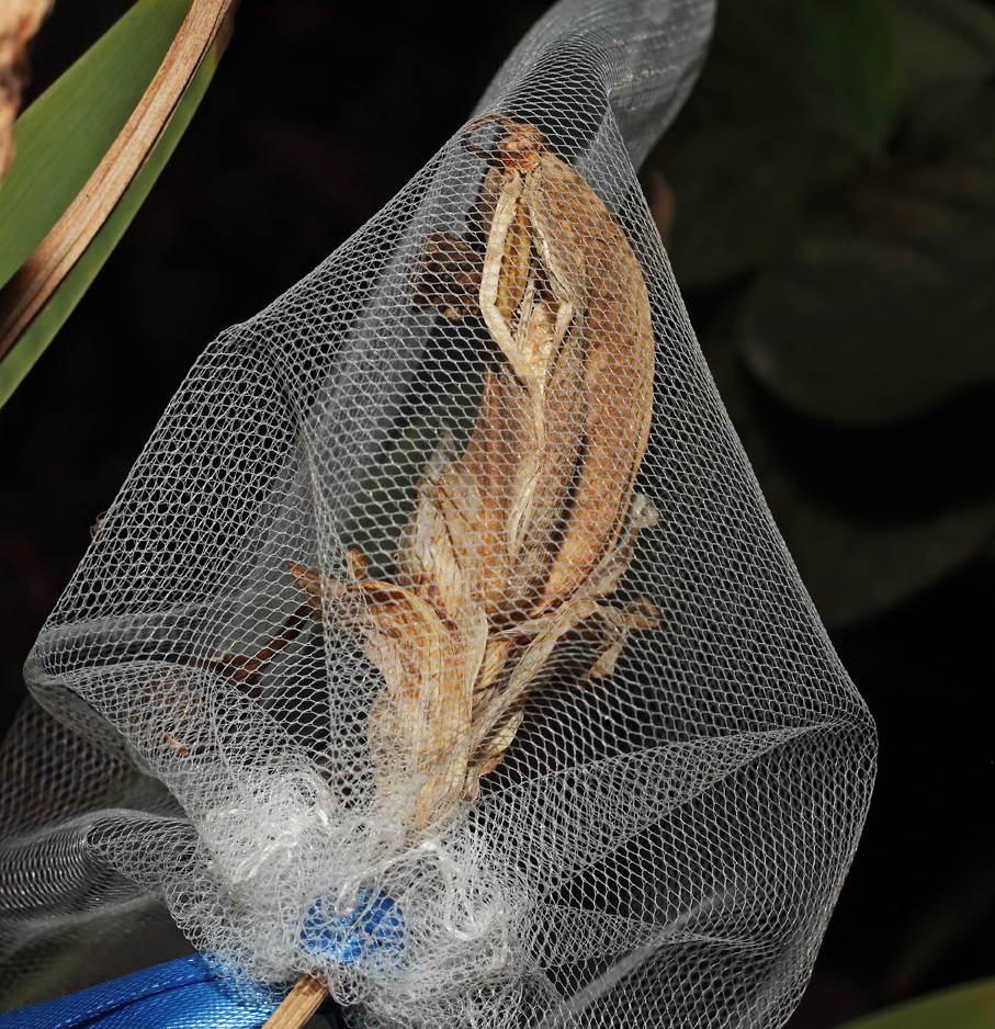
<instances>
[{"instance_id":1,"label":"dark rounded blurred leaf at right edge, below the dim top leaf","mask_svg":"<svg viewBox=\"0 0 995 1029\"><path fill-rule=\"evenodd\" d=\"M995 89L957 143L856 184L747 297L738 346L783 402L895 420L995 378Z\"/></svg>"}]
</instances>

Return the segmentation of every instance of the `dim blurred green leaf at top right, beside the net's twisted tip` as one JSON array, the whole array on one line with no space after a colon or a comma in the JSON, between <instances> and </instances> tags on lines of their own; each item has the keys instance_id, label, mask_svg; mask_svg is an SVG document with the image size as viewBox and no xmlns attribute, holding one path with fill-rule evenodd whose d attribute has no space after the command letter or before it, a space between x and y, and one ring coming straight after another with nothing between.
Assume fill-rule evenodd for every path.
<instances>
[{"instance_id":1,"label":"dim blurred green leaf at top right, beside the net's twisted tip","mask_svg":"<svg viewBox=\"0 0 995 1029\"><path fill-rule=\"evenodd\" d=\"M880 160L902 103L875 0L727 0L689 109L659 150L682 286L756 267L813 190Z\"/></svg>"}]
</instances>

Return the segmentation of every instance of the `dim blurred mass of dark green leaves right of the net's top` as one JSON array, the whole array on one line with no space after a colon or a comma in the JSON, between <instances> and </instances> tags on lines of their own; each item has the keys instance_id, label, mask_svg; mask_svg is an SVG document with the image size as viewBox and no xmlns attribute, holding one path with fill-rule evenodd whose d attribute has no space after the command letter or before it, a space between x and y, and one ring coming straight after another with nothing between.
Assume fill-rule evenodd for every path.
<instances>
[{"instance_id":1,"label":"dim blurred mass of dark green leaves right of the net's top","mask_svg":"<svg viewBox=\"0 0 995 1029\"><path fill-rule=\"evenodd\" d=\"M723 0L648 162L705 355L830 629L995 533L993 76L983 0Z\"/></svg>"}]
</instances>

